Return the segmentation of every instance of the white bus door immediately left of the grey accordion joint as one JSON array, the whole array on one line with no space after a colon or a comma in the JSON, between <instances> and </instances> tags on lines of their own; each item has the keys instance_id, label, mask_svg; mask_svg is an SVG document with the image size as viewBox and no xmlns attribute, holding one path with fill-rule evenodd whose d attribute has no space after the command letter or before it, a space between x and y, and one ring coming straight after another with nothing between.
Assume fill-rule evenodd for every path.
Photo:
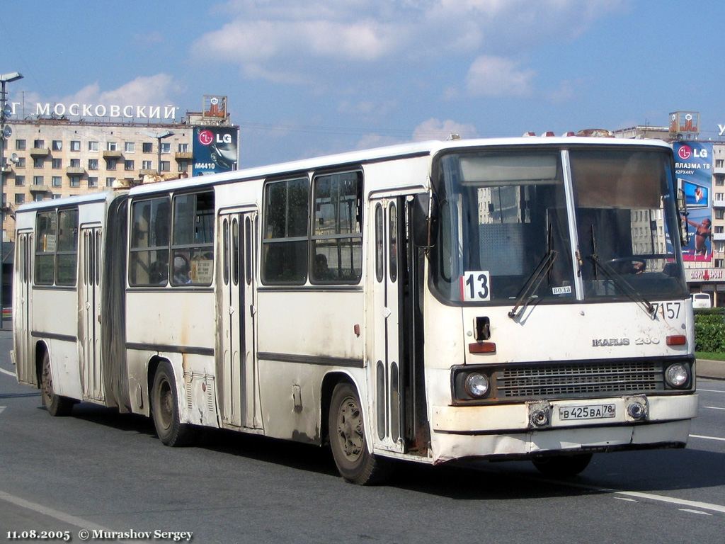
<instances>
[{"instance_id":1,"label":"white bus door immediately left of the grey accordion joint","mask_svg":"<svg viewBox=\"0 0 725 544\"><path fill-rule=\"evenodd\" d=\"M101 365L101 226L80 227L79 341L83 398L104 400Z\"/></svg>"}]
</instances>

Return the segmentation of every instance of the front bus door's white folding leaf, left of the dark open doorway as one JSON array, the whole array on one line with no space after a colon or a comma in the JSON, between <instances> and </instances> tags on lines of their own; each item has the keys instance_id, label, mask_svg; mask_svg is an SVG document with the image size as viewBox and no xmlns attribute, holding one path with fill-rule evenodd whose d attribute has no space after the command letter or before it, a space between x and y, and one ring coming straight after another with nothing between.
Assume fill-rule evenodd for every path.
<instances>
[{"instance_id":1,"label":"front bus door's white folding leaf, left of the dark open doorway","mask_svg":"<svg viewBox=\"0 0 725 544\"><path fill-rule=\"evenodd\" d=\"M373 331L368 384L375 397L377 439L384 448L405 450L405 363L403 361L402 271L405 262L405 210L402 197L370 202L369 239L374 247L368 259L372 305L368 330Z\"/></svg>"}]
</instances>

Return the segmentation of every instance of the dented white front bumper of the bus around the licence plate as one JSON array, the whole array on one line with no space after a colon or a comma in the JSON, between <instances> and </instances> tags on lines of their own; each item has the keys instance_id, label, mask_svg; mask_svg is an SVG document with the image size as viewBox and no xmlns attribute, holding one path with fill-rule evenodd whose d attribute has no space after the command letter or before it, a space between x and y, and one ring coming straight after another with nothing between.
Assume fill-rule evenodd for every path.
<instances>
[{"instance_id":1,"label":"dented white front bumper of the bus around the licence plate","mask_svg":"<svg viewBox=\"0 0 725 544\"><path fill-rule=\"evenodd\" d=\"M434 406L431 447L434 463L459 458L522 458L552 451L597 451L682 447L690 419L697 415L697 395L647 397L645 419L633 421L627 405L633 397L558 400L550 404L544 427L530 421L530 405ZM560 408L614 403L616 416L563 421Z\"/></svg>"}]
</instances>

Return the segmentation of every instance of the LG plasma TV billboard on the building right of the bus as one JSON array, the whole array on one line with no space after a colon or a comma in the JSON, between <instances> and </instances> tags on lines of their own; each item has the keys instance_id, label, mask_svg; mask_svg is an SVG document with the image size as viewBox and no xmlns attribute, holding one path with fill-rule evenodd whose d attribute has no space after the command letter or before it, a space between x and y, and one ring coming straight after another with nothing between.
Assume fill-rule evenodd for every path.
<instances>
[{"instance_id":1,"label":"LG plasma TV billboard on the building right of the bus","mask_svg":"<svg viewBox=\"0 0 725 544\"><path fill-rule=\"evenodd\" d=\"M687 204L689 244L682 248L687 261L713 259L713 145L694 141L673 144L677 188Z\"/></svg>"}]
</instances>

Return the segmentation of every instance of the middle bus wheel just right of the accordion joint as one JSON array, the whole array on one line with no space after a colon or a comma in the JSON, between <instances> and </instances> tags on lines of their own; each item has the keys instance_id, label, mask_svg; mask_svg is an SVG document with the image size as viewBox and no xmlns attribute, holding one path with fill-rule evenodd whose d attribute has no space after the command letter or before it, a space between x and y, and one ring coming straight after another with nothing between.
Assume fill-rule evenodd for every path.
<instances>
[{"instance_id":1,"label":"middle bus wheel just right of the accordion joint","mask_svg":"<svg viewBox=\"0 0 725 544\"><path fill-rule=\"evenodd\" d=\"M194 426L183 424L179 419L174 373L166 361L156 369L150 397L154 427L162 444L173 447L191 444L194 440Z\"/></svg>"}]
</instances>

